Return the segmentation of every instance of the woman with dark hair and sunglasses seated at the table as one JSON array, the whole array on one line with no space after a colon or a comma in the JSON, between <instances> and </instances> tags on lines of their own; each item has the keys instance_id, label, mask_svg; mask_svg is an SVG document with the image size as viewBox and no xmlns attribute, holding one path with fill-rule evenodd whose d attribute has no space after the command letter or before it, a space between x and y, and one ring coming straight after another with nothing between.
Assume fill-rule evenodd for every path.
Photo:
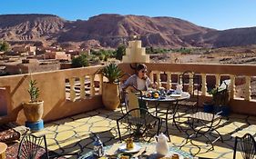
<instances>
[{"instance_id":1,"label":"woman with dark hair and sunglasses seated at the table","mask_svg":"<svg viewBox=\"0 0 256 159\"><path fill-rule=\"evenodd\" d=\"M128 80L121 85L124 92L136 92L136 91L148 91L148 87L156 87L152 84L147 75L147 65L138 64L136 67L136 74L128 77ZM126 103L128 103L128 97L126 96ZM147 109L145 101L138 100L138 105L141 108Z\"/></svg>"}]
</instances>

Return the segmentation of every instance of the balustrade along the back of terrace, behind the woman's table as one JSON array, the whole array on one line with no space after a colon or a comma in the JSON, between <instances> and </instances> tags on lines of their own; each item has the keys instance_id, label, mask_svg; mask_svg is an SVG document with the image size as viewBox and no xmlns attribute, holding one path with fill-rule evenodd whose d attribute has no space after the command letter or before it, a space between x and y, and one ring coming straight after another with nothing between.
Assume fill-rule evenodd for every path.
<instances>
[{"instance_id":1,"label":"balustrade along the back of terrace, behind the woman's table","mask_svg":"<svg viewBox=\"0 0 256 159\"><path fill-rule=\"evenodd\" d=\"M256 65L197 65L197 64L152 64L148 63L148 76L157 83L157 87L174 88L180 83L179 75L191 71L200 75L200 105L210 100L210 89L220 86L230 79L230 107L234 112L256 114L256 90L251 91L251 84L256 84ZM129 64L119 65L125 72L132 73ZM255 81L255 83L253 83ZM254 85L253 85L254 86ZM192 82L189 81L189 89Z\"/></svg>"}]
</instances>

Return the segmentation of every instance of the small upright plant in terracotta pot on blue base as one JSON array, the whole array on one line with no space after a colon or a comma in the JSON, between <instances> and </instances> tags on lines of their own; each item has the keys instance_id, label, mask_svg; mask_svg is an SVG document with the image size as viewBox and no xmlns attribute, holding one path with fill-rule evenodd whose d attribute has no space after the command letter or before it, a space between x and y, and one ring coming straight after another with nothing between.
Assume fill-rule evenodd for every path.
<instances>
[{"instance_id":1,"label":"small upright plant in terracotta pot on blue base","mask_svg":"<svg viewBox=\"0 0 256 159\"><path fill-rule=\"evenodd\" d=\"M36 87L36 80L29 81L27 92L30 95L30 101L23 104L24 114L27 122L36 123L41 120L44 113L44 101L38 100L39 88Z\"/></svg>"}]
</instances>

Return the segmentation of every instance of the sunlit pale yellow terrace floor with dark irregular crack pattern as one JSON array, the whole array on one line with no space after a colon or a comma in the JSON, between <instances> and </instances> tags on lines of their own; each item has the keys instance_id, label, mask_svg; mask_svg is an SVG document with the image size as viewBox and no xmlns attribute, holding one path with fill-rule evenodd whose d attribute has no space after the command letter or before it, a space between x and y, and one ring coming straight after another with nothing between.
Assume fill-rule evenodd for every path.
<instances>
[{"instance_id":1,"label":"sunlit pale yellow terrace floor with dark irregular crack pattern","mask_svg":"<svg viewBox=\"0 0 256 159\"><path fill-rule=\"evenodd\" d=\"M152 107L152 105L149 105ZM193 133L189 130L189 125L186 124L189 113L185 109L180 109L179 126L182 130L187 130L187 133ZM154 107L149 109L154 113ZM45 124L45 129L36 134L46 134L48 148L56 151L56 153L79 152L79 154L86 154L93 148L94 136L98 135L102 142L106 145L118 142L117 119L122 115L120 109L116 111L108 111L104 108L84 114L77 114L67 117L62 120L54 121ZM187 134L179 132L179 130L169 120L169 134L171 144L180 146L186 143ZM160 132L165 132L166 125L162 125ZM191 153L199 154L201 157L211 158L232 158L234 137L241 136L245 133L256 134L256 117L242 114L230 114L229 118L224 118L218 128L222 134L224 143L217 141L214 144L214 150L209 150L210 145L206 144L203 138L195 139L193 144L198 144L200 147L191 143L185 144L181 147L182 150ZM121 134L125 134L123 129ZM154 139L152 140L154 141ZM241 155L238 153L238 155ZM71 157L76 158L76 157Z\"/></svg>"}]
</instances>

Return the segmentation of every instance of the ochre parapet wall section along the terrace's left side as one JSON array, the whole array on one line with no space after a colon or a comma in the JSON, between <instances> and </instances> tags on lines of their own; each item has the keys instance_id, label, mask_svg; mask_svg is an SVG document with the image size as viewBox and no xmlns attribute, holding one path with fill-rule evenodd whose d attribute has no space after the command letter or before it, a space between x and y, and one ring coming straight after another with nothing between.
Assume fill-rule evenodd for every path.
<instances>
[{"instance_id":1,"label":"ochre parapet wall section along the terrace's left side","mask_svg":"<svg viewBox=\"0 0 256 159\"><path fill-rule=\"evenodd\" d=\"M17 122L24 124L26 117L22 103L29 101L27 88L31 77L40 89L39 99L44 101L45 122L79 114L102 107L102 75L97 75L102 66L89 66L32 75L0 77L0 87L5 88L7 115L0 117L0 124Z\"/></svg>"}]
</instances>

